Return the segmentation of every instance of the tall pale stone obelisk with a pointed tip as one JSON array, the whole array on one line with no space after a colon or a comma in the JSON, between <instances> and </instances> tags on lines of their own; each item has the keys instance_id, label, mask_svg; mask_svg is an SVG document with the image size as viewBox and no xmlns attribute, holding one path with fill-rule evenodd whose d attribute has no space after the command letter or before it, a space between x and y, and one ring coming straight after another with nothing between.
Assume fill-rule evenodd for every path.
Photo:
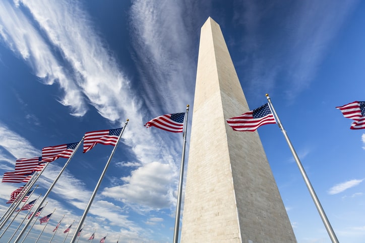
<instances>
[{"instance_id":1,"label":"tall pale stone obelisk with a pointed tip","mask_svg":"<svg viewBox=\"0 0 365 243\"><path fill-rule=\"evenodd\" d=\"M200 36L181 242L296 242L257 131L226 123L249 110L209 17Z\"/></svg>"}]
</instances>

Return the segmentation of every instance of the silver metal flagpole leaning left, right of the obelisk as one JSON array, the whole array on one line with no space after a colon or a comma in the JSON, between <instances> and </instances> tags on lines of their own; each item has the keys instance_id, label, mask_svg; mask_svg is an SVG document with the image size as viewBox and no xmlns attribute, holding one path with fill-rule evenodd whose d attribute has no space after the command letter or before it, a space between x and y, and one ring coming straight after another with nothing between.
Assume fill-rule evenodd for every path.
<instances>
[{"instance_id":1,"label":"silver metal flagpole leaning left, right of the obelisk","mask_svg":"<svg viewBox=\"0 0 365 243\"><path fill-rule=\"evenodd\" d=\"M332 242L333 242L333 243L339 243L339 242L338 242L338 239L337 239L337 237L336 237L336 234L335 234L335 232L333 231L332 226L331 226L331 224L330 224L330 222L329 222L329 220L328 220L328 218L327 218L327 216L326 216L326 213L325 213L325 211L323 210L323 208L322 208L322 206L321 206L320 201L318 200L318 197L317 197L317 195L316 195L316 192L314 191L314 189L313 189L313 187L312 187L312 184L311 184L311 182L310 182L310 181L309 181L309 179L308 179L308 176L307 176L307 174L306 174L306 171L304 170L303 166L301 165L300 160L299 160L299 157L298 157L298 155L296 154L296 152L295 152L295 150L294 150L294 147L293 147L293 145L291 144L290 139L289 139L288 135L286 134L286 131L285 131L285 129L284 129L284 127L283 127L283 125L281 124L281 122L280 122L280 119L279 119L278 115L276 114L276 111L275 111L275 109L274 109L274 107L273 107L273 105L272 105L272 103L271 103L271 99L270 99L270 97L269 97L269 95L268 95L268 94L266 94L266 98L267 98L267 100L268 100L268 102L269 102L269 105L270 105L270 108L271 108L272 112L274 113L274 115L275 115L275 117L276 117L276 121L277 121L277 123L278 123L278 125L279 125L280 130L281 130L281 131L282 131L282 133L284 134L284 137L285 137L285 139L286 139L286 142L288 143L289 148L290 148L290 150L291 150L291 153L292 153L292 154L293 154L293 156L294 156L294 159L295 159L295 161L296 161L296 165L298 166L299 171L300 171L300 173L301 173L301 175L302 175L302 177L303 177L304 181L306 182L306 185L307 185L307 187L308 187L308 190L309 190L309 192L310 192L310 194L311 194L311 196L312 196L312 199L313 199L313 201L314 201L314 204L316 205L317 210L318 210L318 212L319 212L319 214L320 214L320 216L321 216L321 218L322 218L322 221L323 221L323 223L324 223L324 225L325 225L325 227L326 227L326 230L327 230L327 232L328 232L328 235L330 236L330 238L331 238L331 240L332 240Z\"/></svg>"}]
</instances>

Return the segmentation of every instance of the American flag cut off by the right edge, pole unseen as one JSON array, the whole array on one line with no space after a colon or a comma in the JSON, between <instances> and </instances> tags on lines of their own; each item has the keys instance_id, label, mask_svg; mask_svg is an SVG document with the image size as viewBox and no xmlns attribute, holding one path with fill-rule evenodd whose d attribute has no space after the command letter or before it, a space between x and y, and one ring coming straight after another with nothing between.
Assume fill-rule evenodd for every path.
<instances>
[{"instance_id":1,"label":"American flag cut off by the right edge, pole unseen","mask_svg":"<svg viewBox=\"0 0 365 243\"><path fill-rule=\"evenodd\" d=\"M354 120L350 129L365 129L365 101L354 101L336 108L342 112L344 117Z\"/></svg>"}]
</instances>

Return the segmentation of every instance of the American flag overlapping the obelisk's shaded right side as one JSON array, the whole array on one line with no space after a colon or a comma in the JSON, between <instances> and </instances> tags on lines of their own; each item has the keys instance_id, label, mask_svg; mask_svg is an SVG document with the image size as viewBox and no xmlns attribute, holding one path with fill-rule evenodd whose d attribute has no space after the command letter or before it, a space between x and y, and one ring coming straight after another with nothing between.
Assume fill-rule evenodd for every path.
<instances>
[{"instance_id":1,"label":"American flag overlapping the obelisk's shaded right side","mask_svg":"<svg viewBox=\"0 0 365 243\"><path fill-rule=\"evenodd\" d=\"M253 111L227 119L227 123L235 131L253 132L262 125L275 124L276 121L266 103Z\"/></svg>"}]
</instances>

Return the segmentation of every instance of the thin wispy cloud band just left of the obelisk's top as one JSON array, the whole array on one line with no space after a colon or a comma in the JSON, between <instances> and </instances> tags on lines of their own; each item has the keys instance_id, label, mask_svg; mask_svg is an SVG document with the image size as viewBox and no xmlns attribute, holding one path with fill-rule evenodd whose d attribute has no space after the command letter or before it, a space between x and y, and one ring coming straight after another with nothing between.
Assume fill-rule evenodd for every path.
<instances>
[{"instance_id":1,"label":"thin wispy cloud band just left of the obelisk's top","mask_svg":"<svg viewBox=\"0 0 365 243\"><path fill-rule=\"evenodd\" d=\"M135 0L131 7L135 58L154 114L161 106L183 112L193 101L196 67L183 11L183 2Z\"/></svg>"}]
</instances>

